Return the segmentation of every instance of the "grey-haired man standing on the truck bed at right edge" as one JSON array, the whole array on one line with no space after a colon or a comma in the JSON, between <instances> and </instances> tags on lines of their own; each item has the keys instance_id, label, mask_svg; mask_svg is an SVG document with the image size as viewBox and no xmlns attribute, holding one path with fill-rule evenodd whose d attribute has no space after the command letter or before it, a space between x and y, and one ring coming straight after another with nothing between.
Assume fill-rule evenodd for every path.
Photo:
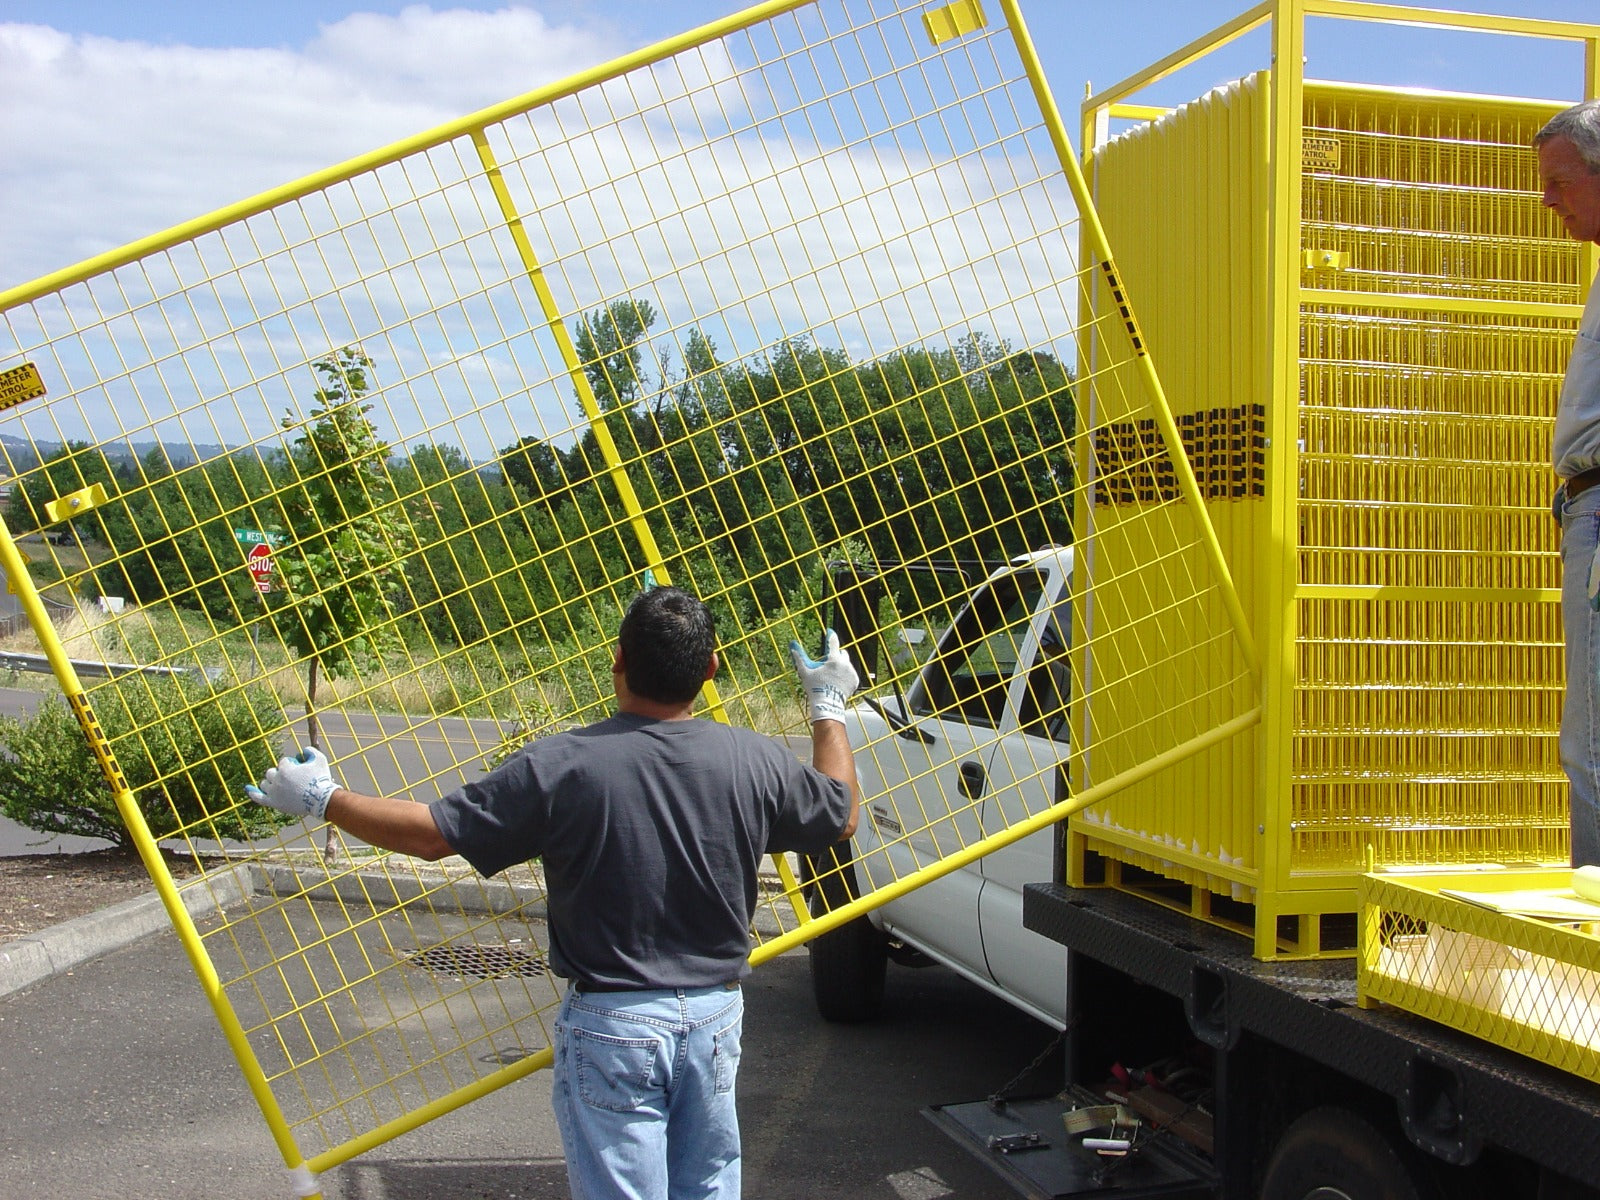
<instances>
[{"instance_id":1,"label":"grey-haired man standing on the truck bed at right edge","mask_svg":"<svg viewBox=\"0 0 1600 1200\"><path fill-rule=\"evenodd\" d=\"M1533 139L1544 206L1579 242L1600 243L1600 101L1558 112ZM1566 702L1562 770L1571 781L1573 866L1600 864L1600 288L1590 286L1555 408L1562 478L1562 621Z\"/></svg>"}]
</instances>

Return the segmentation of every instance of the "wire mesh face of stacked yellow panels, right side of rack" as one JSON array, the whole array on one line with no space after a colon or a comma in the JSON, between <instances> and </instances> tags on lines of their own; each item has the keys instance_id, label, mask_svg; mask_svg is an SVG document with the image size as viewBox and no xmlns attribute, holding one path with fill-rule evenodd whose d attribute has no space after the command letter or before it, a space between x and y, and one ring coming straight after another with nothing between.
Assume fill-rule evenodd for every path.
<instances>
[{"instance_id":1,"label":"wire mesh face of stacked yellow panels, right side of rack","mask_svg":"<svg viewBox=\"0 0 1600 1200\"><path fill-rule=\"evenodd\" d=\"M1550 306L1584 288L1538 203L1552 112L1306 90L1293 870L1566 859Z\"/></svg>"}]
</instances>

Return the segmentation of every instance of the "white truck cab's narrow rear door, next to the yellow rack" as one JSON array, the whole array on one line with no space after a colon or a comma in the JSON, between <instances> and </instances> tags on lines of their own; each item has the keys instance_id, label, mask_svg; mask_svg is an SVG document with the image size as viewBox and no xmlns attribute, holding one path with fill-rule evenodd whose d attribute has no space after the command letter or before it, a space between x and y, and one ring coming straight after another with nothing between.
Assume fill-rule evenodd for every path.
<instances>
[{"instance_id":1,"label":"white truck cab's narrow rear door, next to the yellow rack","mask_svg":"<svg viewBox=\"0 0 1600 1200\"><path fill-rule=\"evenodd\" d=\"M1056 803L1064 787L1072 698L1066 579L1053 579L1053 595L1061 598L1029 638L1027 667L1014 680L1000 738L986 763L979 819L990 834ZM978 901L979 936L994 981L1014 1002L1053 1022L1067 1011L1067 973L1061 947L1024 928L1022 885L1054 877L1058 835L1051 826L982 858Z\"/></svg>"}]
</instances>

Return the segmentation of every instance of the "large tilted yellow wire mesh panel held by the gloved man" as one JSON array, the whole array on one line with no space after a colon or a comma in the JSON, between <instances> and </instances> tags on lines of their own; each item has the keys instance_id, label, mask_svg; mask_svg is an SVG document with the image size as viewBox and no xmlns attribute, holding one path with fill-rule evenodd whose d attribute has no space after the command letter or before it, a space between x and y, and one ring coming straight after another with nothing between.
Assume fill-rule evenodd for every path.
<instances>
[{"instance_id":1,"label":"large tilted yellow wire mesh panel held by the gloved man","mask_svg":"<svg viewBox=\"0 0 1600 1200\"><path fill-rule=\"evenodd\" d=\"M427 800L602 715L646 573L718 613L709 710L794 738L787 645L850 578L936 630L986 565L1074 541L1088 475L1144 496L1078 536L1048 715L1082 715L1010 763L1078 794L950 794L850 904L779 862L757 960L1250 718L1238 602L1006 14L750 10L0 294L11 648L67 698L11 730L21 774L117 837L106 776L291 1166L547 1062L557 989L538 864L422 869L243 784L318 742ZM189 890L245 899L195 926Z\"/></svg>"}]
</instances>

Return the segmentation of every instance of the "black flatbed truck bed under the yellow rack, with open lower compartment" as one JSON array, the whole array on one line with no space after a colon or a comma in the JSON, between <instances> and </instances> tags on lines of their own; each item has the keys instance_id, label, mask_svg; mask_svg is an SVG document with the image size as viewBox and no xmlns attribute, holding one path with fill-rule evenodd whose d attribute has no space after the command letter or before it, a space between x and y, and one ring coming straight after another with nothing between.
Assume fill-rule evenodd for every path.
<instances>
[{"instance_id":1,"label":"black flatbed truck bed under the yellow rack, with open lower compartment","mask_svg":"<svg viewBox=\"0 0 1600 1200\"><path fill-rule=\"evenodd\" d=\"M1114 1171L1051 1190L1040 1182L1059 1174L1046 1150L1029 1163L987 1146L992 1106L930 1114L966 1126L968 1149L1027 1195L1600 1197L1600 1085L1395 1008L1358 1008L1350 958L1259 962L1243 936L1102 888L1027 885L1022 917L1064 947L1067 1086L1058 1107L1104 1102L1115 1080L1142 1077L1139 1064L1182 1062L1205 1091L1181 1107L1210 1115L1205 1139L1162 1138L1163 1150L1195 1165L1187 1184L1144 1190L1138 1173ZM1158 1126L1147 1122L1146 1133ZM1082 1158L1059 1122L1046 1136ZM1330 1162L1334 1174L1352 1171L1334 1190Z\"/></svg>"}]
</instances>

